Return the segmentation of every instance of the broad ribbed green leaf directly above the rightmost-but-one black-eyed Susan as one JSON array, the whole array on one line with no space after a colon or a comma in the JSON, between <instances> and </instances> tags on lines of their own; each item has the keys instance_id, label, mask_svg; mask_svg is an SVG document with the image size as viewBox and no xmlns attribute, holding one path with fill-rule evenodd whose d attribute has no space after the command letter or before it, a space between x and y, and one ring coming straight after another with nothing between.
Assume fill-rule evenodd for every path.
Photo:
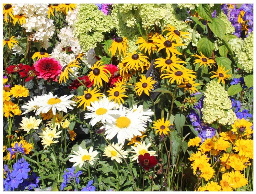
<instances>
[{"instance_id":1,"label":"broad ribbed green leaf directly above the rightmost-but-one black-eyed Susan","mask_svg":"<svg viewBox=\"0 0 256 194\"><path fill-rule=\"evenodd\" d=\"M206 57L210 58L213 54L214 41L211 38L201 38L197 43L198 51L201 51Z\"/></svg>"}]
</instances>

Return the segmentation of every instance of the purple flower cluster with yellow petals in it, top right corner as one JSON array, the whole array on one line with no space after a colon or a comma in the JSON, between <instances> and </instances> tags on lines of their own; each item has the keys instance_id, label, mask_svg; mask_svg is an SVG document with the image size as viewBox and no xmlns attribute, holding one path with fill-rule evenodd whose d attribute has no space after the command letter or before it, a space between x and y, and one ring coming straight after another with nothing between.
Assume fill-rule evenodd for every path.
<instances>
[{"instance_id":1,"label":"purple flower cluster with yellow petals in it, top right corner","mask_svg":"<svg viewBox=\"0 0 256 194\"><path fill-rule=\"evenodd\" d=\"M237 5L222 4L221 10L227 15L228 20L235 27L235 35L242 37L245 33L245 37L253 31L253 4L242 4L239 8ZM241 19L242 21L241 21Z\"/></svg>"}]
</instances>

